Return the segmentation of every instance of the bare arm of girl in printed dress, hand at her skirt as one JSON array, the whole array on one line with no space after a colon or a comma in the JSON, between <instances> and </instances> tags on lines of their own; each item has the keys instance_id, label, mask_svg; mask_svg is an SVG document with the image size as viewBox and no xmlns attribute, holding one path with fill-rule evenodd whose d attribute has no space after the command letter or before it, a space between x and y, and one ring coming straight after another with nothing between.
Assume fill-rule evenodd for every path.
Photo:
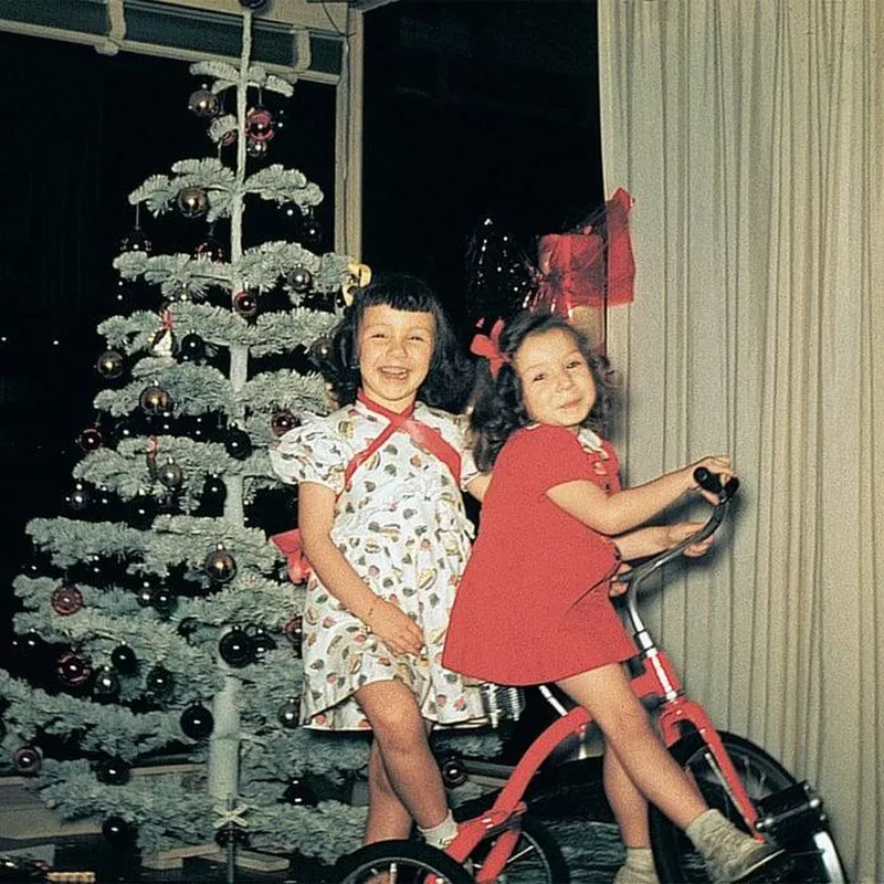
<instances>
[{"instance_id":1,"label":"bare arm of girl in printed dress, hand at her skirt","mask_svg":"<svg viewBox=\"0 0 884 884\"><path fill-rule=\"evenodd\" d=\"M418 624L366 586L332 541L335 492L316 482L298 485L297 523L304 555L328 591L356 614L396 654L419 654L423 634Z\"/></svg>"}]
</instances>

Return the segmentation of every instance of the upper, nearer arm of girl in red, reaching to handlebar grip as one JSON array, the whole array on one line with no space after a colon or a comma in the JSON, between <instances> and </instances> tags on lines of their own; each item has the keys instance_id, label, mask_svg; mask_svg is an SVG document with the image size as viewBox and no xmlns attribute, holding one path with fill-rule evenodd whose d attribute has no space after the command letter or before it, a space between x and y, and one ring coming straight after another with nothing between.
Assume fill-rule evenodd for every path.
<instances>
[{"instance_id":1,"label":"upper, nearer arm of girl in red, reaching to handlebar grip","mask_svg":"<svg viewBox=\"0 0 884 884\"><path fill-rule=\"evenodd\" d=\"M685 492L696 488L694 470L697 466L722 474L723 481L727 481L730 457L704 457L690 466L664 473L644 485L614 494L608 494L588 480L577 480L555 485L547 491L547 495L554 504L587 527L613 537L636 528L674 504Z\"/></svg>"}]
</instances>

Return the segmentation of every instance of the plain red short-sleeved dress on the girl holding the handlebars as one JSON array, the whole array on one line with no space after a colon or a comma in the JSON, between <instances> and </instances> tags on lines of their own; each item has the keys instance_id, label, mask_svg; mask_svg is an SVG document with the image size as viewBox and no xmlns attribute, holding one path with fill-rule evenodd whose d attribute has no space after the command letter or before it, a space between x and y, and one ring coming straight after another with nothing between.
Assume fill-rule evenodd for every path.
<instances>
[{"instance_id":1,"label":"plain red short-sleeved dress on the girl holding the handlebars","mask_svg":"<svg viewBox=\"0 0 884 884\"><path fill-rule=\"evenodd\" d=\"M581 436L583 444L561 427L526 428L501 451L451 612L448 669L541 684L636 653L608 594L619 565L613 544L546 494L575 480L620 490L613 449Z\"/></svg>"}]
</instances>

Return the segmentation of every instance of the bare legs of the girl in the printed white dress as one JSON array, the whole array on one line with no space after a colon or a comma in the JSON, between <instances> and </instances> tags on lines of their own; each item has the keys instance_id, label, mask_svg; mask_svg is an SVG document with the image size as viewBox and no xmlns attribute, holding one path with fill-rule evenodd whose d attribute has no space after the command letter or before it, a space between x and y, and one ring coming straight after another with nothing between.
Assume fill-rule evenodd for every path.
<instances>
[{"instance_id":1,"label":"bare legs of the girl in the printed white dress","mask_svg":"<svg viewBox=\"0 0 884 884\"><path fill-rule=\"evenodd\" d=\"M390 791L422 829L439 825L448 817L449 806L414 695L401 682L373 682L359 688L356 699L375 732L375 745ZM369 767L370 788L379 787L369 794L372 802L376 793L381 801L380 817L372 820L369 812L373 840L379 840L375 833L393 830L397 834L382 836L407 838L408 832L404 835L398 833L403 819L401 810L382 794L385 783L380 779L380 770L375 768L373 774L376 780L372 783L372 768ZM366 832L367 841L368 838L369 833Z\"/></svg>"}]
</instances>

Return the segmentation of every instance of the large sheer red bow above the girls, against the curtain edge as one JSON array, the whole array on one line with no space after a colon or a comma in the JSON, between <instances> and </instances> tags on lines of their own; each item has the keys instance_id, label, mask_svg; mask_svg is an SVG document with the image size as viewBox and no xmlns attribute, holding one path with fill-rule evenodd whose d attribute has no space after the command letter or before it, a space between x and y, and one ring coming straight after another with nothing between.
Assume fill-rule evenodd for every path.
<instances>
[{"instance_id":1,"label":"large sheer red bow above the girls, against the curtain edge","mask_svg":"<svg viewBox=\"0 0 884 884\"><path fill-rule=\"evenodd\" d=\"M590 221L570 233L541 236L538 285L526 306L570 317L578 306L630 304L635 280L628 223L632 203L632 197L619 188L604 203L601 232Z\"/></svg>"}]
</instances>

